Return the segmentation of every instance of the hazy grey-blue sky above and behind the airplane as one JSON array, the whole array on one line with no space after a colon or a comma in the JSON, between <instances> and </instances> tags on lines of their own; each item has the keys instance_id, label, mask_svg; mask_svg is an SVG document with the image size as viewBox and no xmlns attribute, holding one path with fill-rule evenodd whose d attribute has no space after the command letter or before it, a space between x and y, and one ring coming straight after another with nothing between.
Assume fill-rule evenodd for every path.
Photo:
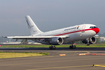
<instances>
[{"instance_id":1,"label":"hazy grey-blue sky above and behind the airplane","mask_svg":"<svg viewBox=\"0 0 105 70\"><path fill-rule=\"evenodd\" d=\"M89 23L105 33L105 0L0 0L0 36L30 35L26 15L44 32Z\"/></svg>"}]
</instances>

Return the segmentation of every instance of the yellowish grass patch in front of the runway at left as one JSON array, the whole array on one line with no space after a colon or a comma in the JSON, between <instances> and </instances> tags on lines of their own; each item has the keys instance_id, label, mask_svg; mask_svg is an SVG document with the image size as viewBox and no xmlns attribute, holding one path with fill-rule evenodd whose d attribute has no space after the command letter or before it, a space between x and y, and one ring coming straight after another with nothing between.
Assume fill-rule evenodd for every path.
<instances>
[{"instance_id":1,"label":"yellowish grass patch in front of the runway at left","mask_svg":"<svg viewBox=\"0 0 105 70\"><path fill-rule=\"evenodd\" d=\"M2 58L17 58L17 57L33 57L33 56L43 56L43 55L49 55L49 53L42 53L42 52L41 53L0 52L0 59L2 59Z\"/></svg>"}]
</instances>

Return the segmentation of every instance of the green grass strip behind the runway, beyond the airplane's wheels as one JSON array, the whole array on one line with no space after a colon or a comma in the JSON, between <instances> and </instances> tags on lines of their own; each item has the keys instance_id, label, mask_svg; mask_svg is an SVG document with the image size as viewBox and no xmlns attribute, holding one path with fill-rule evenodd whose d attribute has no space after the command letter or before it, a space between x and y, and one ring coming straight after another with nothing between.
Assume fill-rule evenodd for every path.
<instances>
[{"instance_id":1,"label":"green grass strip behind the runway, beyond the airplane's wheels","mask_svg":"<svg viewBox=\"0 0 105 70\"><path fill-rule=\"evenodd\" d=\"M49 48L50 45L2 45L1 48L9 48L9 47L16 47L16 48ZM70 45L56 45L56 47L69 47ZM105 44L91 44L87 46L86 44L77 44L77 48L105 48Z\"/></svg>"}]
</instances>

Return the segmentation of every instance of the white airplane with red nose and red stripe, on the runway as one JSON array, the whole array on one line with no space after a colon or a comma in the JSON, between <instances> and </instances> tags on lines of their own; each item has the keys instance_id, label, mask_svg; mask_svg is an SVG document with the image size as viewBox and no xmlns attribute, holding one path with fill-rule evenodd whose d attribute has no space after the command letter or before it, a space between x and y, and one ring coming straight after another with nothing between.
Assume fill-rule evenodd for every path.
<instances>
[{"instance_id":1,"label":"white airplane with red nose and red stripe, on the runway","mask_svg":"<svg viewBox=\"0 0 105 70\"><path fill-rule=\"evenodd\" d=\"M30 36L7 36L6 38L12 39L25 39L38 41L41 43L51 45L49 49L56 49L55 45L62 45L64 43L72 43L70 49L75 49L75 41L82 41L90 45L96 43L95 35L99 33L100 29L94 24L80 24L61 28L57 30L42 32L34 23L29 15L26 17L26 22L30 30Z\"/></svg>"}]
</instances>

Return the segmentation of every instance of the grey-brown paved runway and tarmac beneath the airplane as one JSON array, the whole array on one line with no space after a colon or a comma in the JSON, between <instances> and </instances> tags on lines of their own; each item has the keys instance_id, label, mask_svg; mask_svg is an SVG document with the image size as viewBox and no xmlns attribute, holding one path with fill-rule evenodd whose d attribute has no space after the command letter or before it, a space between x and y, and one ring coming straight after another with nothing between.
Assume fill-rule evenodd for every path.
<instances>
[{"instance_id":1,"label":"grey-brown paved runway and tarmac beneath the airplane","mask_svg":"<svg viewBox=\"0 0 105 70\"><path fill-rule=\"evenodd\" d=\"M48 56L0 59L1 70L105 70L105 55L79 53L105 53L105 48L0 48L5 52L49 52ZM66 54L59 56L59 54ZM93 67L93 64L96 65ZM99 66L100 65L100 66ZM101 67L103 65L103 67Z\"/></svg>"}]
</instances>

